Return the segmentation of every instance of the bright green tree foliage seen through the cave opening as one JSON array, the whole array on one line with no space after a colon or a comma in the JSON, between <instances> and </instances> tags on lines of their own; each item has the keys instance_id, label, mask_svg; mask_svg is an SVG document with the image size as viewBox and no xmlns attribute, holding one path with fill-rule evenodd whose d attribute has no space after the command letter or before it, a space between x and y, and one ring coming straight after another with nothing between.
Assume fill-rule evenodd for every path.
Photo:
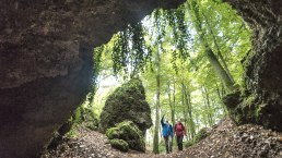
<instances>
[{"instance_id":1,"label":"bright green tree foliage seen through the cave opening","mask_svg":"<svg viewBox=\"0 0 282 158\"><path fill-rule=\"evenodd\" d=\"M184 119L191 139L195 137L192 131L210 126L226 114L222 98L227 89L208 60L201 35L220 64L240 86L244 84L240 61L251 49L252 33L227 3L213 0L190 0L177 10L156 10L142 26L140 24L129 26L104 47L102 59L111 56L114 63L105 60L101 70L106 71L114 65L119 77L139 75L152 111L156 109L156 72L160 70L161 113L172 118L173 104L176 120ZM196 27L200 27L200 32ZM161 54L160 60L157 54ZM160 69L157 61L161 61ZM111 74L106 72L103 75ZM171 83L169 88L167 83ZM119 95L124 94L119 92ZM191 111L189 118L188 110ZM261 112L258 109L254 113ZM154 112L152 118L155 119Z\"/></svg>"}]
</instances>

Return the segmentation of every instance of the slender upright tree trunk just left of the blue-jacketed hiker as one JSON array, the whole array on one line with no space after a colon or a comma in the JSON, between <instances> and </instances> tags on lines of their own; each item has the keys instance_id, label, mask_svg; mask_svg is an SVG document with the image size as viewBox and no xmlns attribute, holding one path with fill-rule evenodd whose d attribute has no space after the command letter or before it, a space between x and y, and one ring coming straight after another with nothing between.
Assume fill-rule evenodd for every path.
<instances>
[{"instance_id":1,"label":"slender upright tree trunk just left of the blue-jacketed hiker","mask_svg":"<svg viewBox=\"0 0 282 158\"><path fill-rule=\"evenodd\" d=\"M156 52L156 105L155 105L155 131L153 141L153 153L158 154L158 130L160 130L160 95L161 95L161 57L160 50Z\"/></svg>"}]
</instances>

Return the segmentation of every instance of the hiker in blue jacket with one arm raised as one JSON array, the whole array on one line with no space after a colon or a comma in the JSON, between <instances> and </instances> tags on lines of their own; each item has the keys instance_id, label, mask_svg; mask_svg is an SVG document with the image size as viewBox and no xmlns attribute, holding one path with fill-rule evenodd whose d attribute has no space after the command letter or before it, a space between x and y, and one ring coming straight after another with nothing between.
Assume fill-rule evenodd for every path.
<instances>
[{"instance_id":1,"label":"hiker in blue jacket with one arm raised","mask_svg":"<svg viewBox=\"0 0 282 158\"><path fill-rule=\"evenodd\" d=\"M173 147L172 147L172 139L174 136L174 132L173 132L173 126L172 124L168 123L168 121L164 122L164 116L161 120L161 124L163 127L163 136L165 139L165 149L166 149L166 154L169 154L173 151Z\"/></svg>"}]
</instances>

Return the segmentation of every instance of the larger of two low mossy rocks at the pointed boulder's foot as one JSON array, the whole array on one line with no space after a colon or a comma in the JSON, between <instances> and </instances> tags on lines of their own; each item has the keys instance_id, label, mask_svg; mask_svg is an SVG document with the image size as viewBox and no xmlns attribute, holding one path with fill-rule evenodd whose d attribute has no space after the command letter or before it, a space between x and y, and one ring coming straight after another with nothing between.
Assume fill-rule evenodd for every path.
<instances>
[{"instance_id":1,"label":"larger of two low mossy rocks at the pointed boulder's foot","mask_svg":"<svg viewBox=\"0 0 282 158\"><path fill-rule=\"evenodd\" d=\"M130 149L145 151L144 136L132 121L124 121L108 129L106 135L109 139L124 139Z\"/></svg>"}]
</instances>

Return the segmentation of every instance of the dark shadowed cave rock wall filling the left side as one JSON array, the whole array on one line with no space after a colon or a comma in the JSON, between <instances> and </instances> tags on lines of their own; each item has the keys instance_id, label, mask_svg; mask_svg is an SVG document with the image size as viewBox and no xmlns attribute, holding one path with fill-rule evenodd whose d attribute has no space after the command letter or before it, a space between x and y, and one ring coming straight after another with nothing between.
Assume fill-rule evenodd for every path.
<instances>
[{"instance_id":1,"label":"dark shadowed cave rock wall filling the left side","mask_svg":"<svg viewBox=\"0 0 282 158\"><path fill-rule=\"evenodd\" d=\"M0 157L35 157L92 81L92 49L183 0L1 0Z\"/></svg>"}]
</instances>

